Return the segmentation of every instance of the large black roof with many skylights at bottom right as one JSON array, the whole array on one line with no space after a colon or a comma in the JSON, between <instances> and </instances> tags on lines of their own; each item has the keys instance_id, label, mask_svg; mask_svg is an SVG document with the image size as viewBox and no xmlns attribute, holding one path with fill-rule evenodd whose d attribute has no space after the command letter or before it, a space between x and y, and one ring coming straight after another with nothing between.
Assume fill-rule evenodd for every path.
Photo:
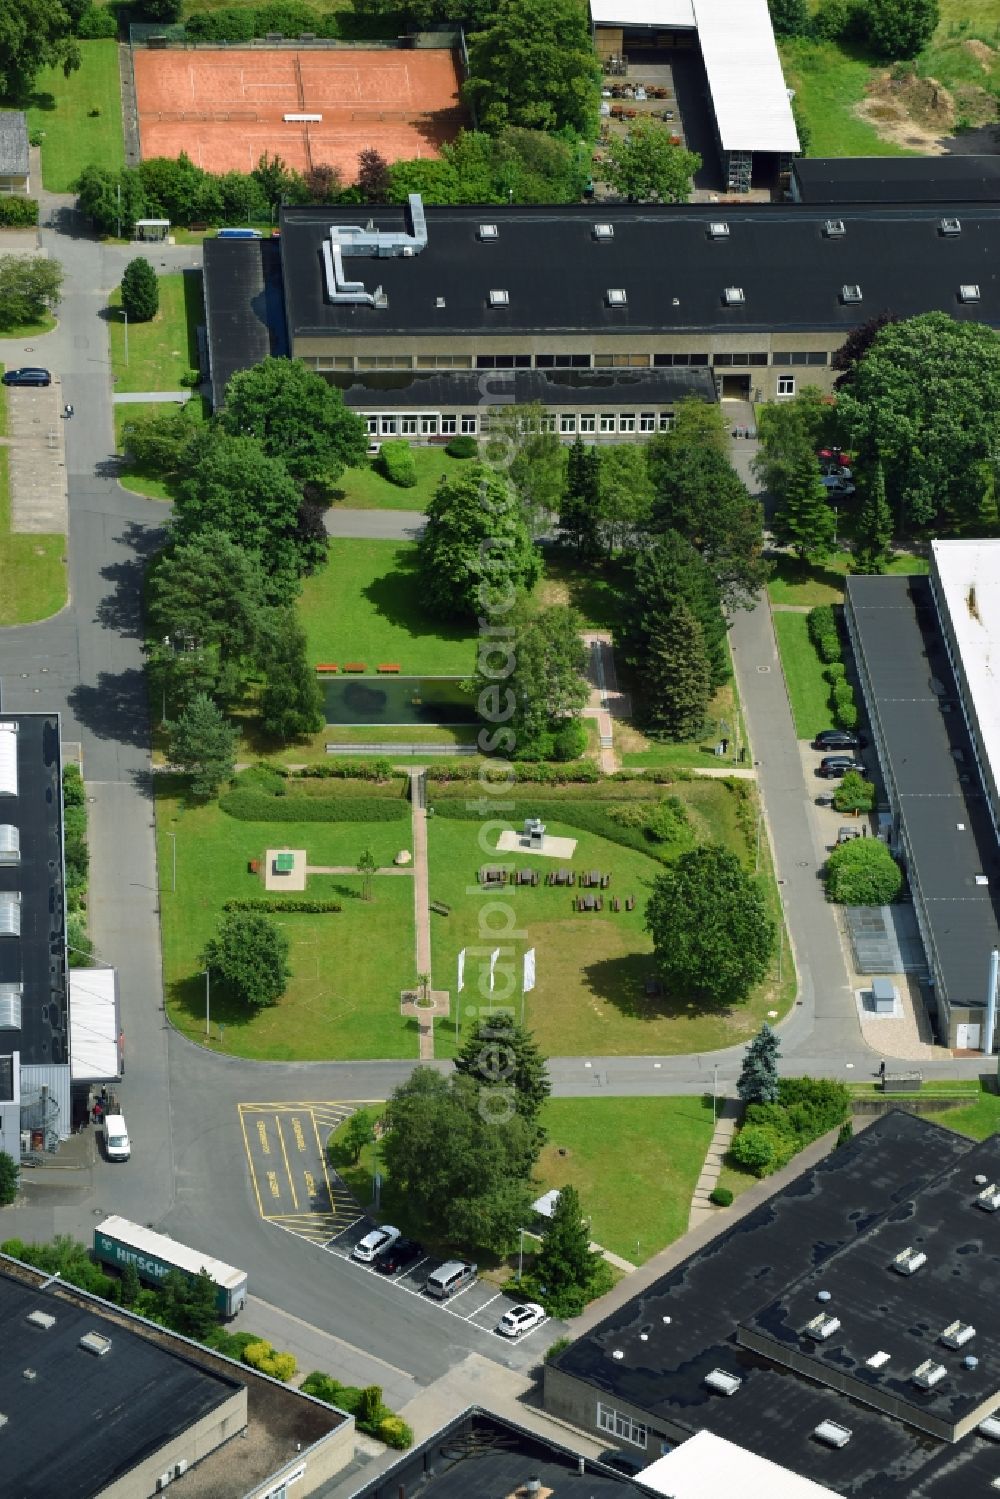
<instances>
[{"instance_id":1,"label":"large black roof with many skylights at bottom right","mask_svg":"<svg viewBox=\"0 0 1000 1499\"><path fill-rule=\"evenodd\" d=\"M1000 1475L996 1444L976 1433L940 1441L907 1424L906 1409L891 1417L834 1388L838 1373L858 1378L859 1363L885 1349L883 1373L865 1370L862 1382L888 1394L898 1385L946 1420L994 1394L1000 1406L1000 1214L975 1207L976 1175L1000 1180L999 1136L976 1145L891 1111L558 1354L555 1367L669 1435L711 1430L853 1499L987 1492ZM888 1268L904 1247L928 1256L913 1277ZM831 1301L817 1303L819 1289ZM798 1349L801 1327L823 1310L843 1331L813 1358L811 1378L738 1342L741 1324L757 1325ZM976 1328L961 1352L937 1342L957 1318ZM975 1370L963 1364L969 1352L981 1360ZM928 1357L948 1375L924 1396L909 1375ZM742 1379L730 1399L705 1387L714 1369ZM846 1447L816 1441L825 1420L850 1430Z\"/></svg>"}]
</instances>

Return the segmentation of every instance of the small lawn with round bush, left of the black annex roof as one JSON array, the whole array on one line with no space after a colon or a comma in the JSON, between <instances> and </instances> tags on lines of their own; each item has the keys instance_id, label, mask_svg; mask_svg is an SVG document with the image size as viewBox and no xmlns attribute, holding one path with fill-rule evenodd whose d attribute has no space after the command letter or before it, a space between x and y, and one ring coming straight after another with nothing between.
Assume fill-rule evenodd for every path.
<instances>
[{"instance_id":1,"label":"small lawn with round bush, left of the black annex roof","mask_svg":"<svg viewBox=\"0 0 1000 1499\"><path fill-rule=\"evenodd\" d=\"M198 324L204 321L199 271L159 277L160 307L151 322L127 327L118 310L120 291L109 298L111 369L120 391L181 390L181 375L198 367Z\"/></svg>"}]
</instances>

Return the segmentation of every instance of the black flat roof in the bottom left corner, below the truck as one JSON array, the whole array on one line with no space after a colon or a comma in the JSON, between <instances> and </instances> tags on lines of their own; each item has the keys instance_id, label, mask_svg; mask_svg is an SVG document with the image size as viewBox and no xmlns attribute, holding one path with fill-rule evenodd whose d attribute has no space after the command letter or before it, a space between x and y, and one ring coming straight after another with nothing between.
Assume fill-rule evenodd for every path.
<instances>
[{"instance_id":1,"label":"black flat roof in the bottom left corner, below the truck","mask_svg":"<svg viewBox=\"0 0 1000 1499\"><path fill-rule=\"evenodd\" d=\"M55 1318L34 1327L31 1312ZM111 1340L102 1357L85 1333ZM61 1297L0 1273L0 1489L90 1499L229 1400L240 1384ZM34 1378L25 1379L24 1370Z\"/></svg>"}]
</instances>

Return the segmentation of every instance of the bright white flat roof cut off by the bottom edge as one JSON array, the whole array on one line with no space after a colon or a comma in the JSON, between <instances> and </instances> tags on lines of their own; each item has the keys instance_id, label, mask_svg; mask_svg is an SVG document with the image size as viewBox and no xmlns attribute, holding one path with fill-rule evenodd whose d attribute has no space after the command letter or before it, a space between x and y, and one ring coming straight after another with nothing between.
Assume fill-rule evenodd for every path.
<instances>
[{"instance_id":1,"label":"bright white flat roof cut off by the bottom edge","mask_svg":"<svg viewBox=\"0 0 1000 1499\"><path fill-rule=\"evenodd\" d=\"M739 1499L829 1499L834 1493L711 1432L697 1432L651 1468L643 1468L639 1481L670 1499L732 1499L733 1495Z\"/></svg>"}]
</instances>

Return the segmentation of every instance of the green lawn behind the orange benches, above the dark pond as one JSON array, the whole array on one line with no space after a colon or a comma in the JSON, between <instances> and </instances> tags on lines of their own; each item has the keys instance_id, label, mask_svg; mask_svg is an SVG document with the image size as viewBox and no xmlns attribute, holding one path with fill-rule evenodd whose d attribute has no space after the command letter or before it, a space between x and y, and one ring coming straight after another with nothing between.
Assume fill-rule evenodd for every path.
<instances>
[{"instance_id":1,"label":"green lawn behind the orange benches, above the dark pond","mask_svg":"<svg viewBox=\"0 0 1000 1499\"><path fill-rule=\"evenodd\" d=\"M465 676L475 667L471 628L424 612L412 541L334 538L324 568L303 583L298 616L310 661L397 661L405 676ZM328 738L328 736L327 736Z\"/></svg>"}]
</instances>

